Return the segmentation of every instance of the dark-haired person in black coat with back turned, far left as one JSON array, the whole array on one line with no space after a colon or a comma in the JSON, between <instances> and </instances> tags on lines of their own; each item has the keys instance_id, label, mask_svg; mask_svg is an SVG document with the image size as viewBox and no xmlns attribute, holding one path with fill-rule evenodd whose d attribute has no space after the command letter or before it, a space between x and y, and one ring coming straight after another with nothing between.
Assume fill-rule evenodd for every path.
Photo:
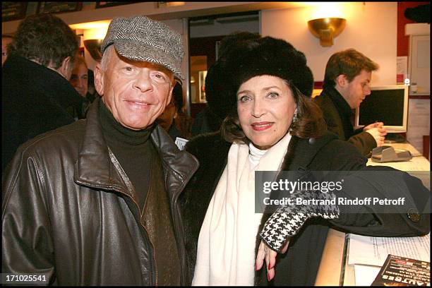
<instances>
[{"instance_id":1,"label":"dark-haired person in black coat with back turned, far left","mask_svg":"<svg viewBox=\"0 0 432 288\"><path fill-rule=\"evenodd\" d=\"M29 16L8 45L1 71L1 167L31 138L74 121L82 98L68 83L76 35L52 15Z\"/></svg>"}]
</instances>

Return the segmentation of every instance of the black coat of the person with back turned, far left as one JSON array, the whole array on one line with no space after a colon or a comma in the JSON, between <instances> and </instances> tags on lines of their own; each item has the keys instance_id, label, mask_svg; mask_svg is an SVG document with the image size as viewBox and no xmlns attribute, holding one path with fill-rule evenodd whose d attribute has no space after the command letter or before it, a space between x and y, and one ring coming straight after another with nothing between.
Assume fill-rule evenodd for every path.
<instances>
[{"instance_id":1,"label":"black coat of the person with back turned, far left","mask_svg":"<svg viewBox=\"0 0 432 288\"><path fill-rule=\"evenodd\" d=\"M8 56L1 68L1 167L19 145L71 124L83 97L56 71L19 56ZM81 115L76 115L83 118Z\"/></svg>"}]
</instances>

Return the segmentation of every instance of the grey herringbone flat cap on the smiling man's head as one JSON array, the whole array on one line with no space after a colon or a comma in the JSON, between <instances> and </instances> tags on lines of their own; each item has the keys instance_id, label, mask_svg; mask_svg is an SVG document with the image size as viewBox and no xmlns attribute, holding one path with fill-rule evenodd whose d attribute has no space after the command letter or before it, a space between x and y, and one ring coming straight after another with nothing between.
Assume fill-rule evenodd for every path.
<instances>
[{"instance_id":1,"label":"grey herringbone flat cap on the smiling man's head","mask_svg":"<svg viewBox=\"0 0 432 288\"><path fill-rule=\"evenodd\" d=\"M102 55L111 44L127 59L160 64L184 80L181 35L162 22L145 16L114 18L102 42Z\"/></svg>"}]
</instances>

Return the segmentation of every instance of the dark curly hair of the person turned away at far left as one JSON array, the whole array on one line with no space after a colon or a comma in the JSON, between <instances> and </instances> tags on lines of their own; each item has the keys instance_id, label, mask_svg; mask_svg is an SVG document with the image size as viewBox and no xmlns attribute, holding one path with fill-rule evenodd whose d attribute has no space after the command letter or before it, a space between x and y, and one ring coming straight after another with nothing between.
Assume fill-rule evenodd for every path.
<instances>
[{"instance_id":1,"label":"dark curly hair of the person turned away at far left","mask_svg":"<svg viewBox=\"0 0 432 288\"><path fill-rule=\"evenodd\" d=\"M76 34L60 18L51 14L26 17L18 26L8 54L35 60L43 66L59 68L66 57L78 52Z\"/></svg>"}]
</instances>

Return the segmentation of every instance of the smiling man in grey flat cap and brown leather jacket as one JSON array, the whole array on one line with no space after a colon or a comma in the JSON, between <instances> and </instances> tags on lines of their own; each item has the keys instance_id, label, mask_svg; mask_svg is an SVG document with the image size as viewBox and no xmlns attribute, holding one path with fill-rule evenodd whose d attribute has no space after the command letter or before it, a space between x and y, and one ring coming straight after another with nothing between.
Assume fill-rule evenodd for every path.
<instances>
[{"instance_id":1,"label":"smiling man in grey flat cap and brown leather jacket","mask_svg":"<svg viewBox=\"0 0 432 288\"><path fill-rule=\"evenodd\" d=\"M198 168L155 124L184 78L181 37L114 18L87 119L22 145L6 171L2 272L58 285L185 284L177 198Z\"/></svg>"}]
</instances>

